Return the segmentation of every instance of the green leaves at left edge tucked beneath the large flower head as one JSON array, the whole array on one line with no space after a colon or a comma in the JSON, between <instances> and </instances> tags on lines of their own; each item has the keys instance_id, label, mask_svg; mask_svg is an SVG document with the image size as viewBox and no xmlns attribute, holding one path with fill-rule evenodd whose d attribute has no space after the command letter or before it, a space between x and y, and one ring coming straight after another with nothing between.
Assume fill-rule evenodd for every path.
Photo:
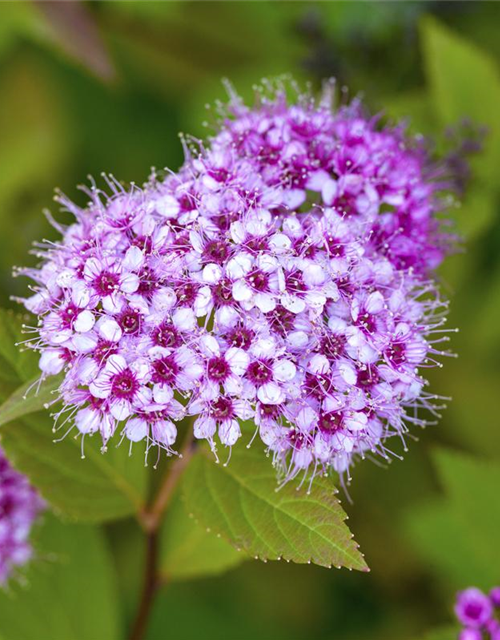
<instances>
[{"instance_id":1,"label":"green leaves at left edge tucked beneath the large flower head","mask_svg":"<svg viewBox=\"0 0 500 640\"><path fill-rule=\"evenodd\" d=\"M15 388L0 407L0 437L12 463L68 518L99 522L140 511L147 492L141 447L130 457L125 446L102 453L98 436L82 441L68 434L61 439L65 427L60 435L56 432L61 441L54 443L54 420L47 412L35 412L52 401L58 379L47 378L38 393L33 388L23 399L33 383L24 381L33 377L37 358L19 350L15 343L21 337L20 318L0 310L0 382L5 381L4 395Z\"/></svg>"}]
</instances>

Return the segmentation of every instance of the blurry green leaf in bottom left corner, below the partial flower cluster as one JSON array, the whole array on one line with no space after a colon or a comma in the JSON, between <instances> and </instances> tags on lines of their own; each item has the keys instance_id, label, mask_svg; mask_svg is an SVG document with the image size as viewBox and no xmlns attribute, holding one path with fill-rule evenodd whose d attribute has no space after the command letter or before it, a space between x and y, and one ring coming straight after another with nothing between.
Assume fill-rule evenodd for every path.
<instances>
[{"instance_id":1,"label":"blurry green leaf in bottom left corner, below the partial flower cluster","mask_svg":"<svg viewBox=\"0 0 500 640\"><path fill-rule=\"evenodd\" d=\"M1 637L118 640L116 579L99 529L46 516L36 534L26 581L0 592Z\"/></svg>"}]
</instances>

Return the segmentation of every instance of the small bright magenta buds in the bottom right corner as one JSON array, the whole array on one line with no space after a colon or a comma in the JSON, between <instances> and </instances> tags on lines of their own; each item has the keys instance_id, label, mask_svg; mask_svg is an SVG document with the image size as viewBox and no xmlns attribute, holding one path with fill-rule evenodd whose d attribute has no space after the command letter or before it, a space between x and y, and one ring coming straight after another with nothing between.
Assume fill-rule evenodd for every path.
<instances>
[{"instance_id":1,"label":"small bright magenta buds in the bottom right corner","mask_svg":"<svg viewBox=\"0 0 500 640\"><path fill-rule=\"evenodd\" d=\"M459 640L500 640L500 587L489 595L470 587L457 595L455 613L464 629Z\"/></svg>"}]
</instances>

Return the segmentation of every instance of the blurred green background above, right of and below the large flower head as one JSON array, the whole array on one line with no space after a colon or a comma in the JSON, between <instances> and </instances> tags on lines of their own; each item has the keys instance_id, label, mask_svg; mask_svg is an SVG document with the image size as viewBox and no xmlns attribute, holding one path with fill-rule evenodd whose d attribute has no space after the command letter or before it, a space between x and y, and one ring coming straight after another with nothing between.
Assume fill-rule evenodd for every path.
<instances>
[{"instance_id":1,"label":"blurred green background above, right of and below the large flower head","mask_svg":"<svg viewBox=\"0 0 500 640\"><path fill-rule=\"evenodd\" d=\"M1 3L4 307L25 287L12 265L52 234L42 210L54 187L83 202L76 185L89 174L142 183L151 166L176 169L178 133L203 135L223 77L251 98L262 77L319 87L335 76L372 111L438 140L466 116L489 129L465 202L451 208L465 251L440 274L459 358L429 378L453 400L404 462L359 465L353 504L344 499L371 574L248 562L177 583L149 640L452 638L432 629L453 623L455 590L500 582L499 18L486 0ZM113 527L109 540L123 564ZM138 585L120 585L130 618Z\"/></svg>"}]
</instances>

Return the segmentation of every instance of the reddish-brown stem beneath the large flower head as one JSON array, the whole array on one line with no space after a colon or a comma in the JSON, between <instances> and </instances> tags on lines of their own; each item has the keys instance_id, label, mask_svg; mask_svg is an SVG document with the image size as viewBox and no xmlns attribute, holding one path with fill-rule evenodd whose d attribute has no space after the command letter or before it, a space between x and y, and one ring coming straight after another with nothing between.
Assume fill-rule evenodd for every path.
<instances>
[{"instance_id":1,"label":"reddish-brown stem beneath the large flower head","mask_svg":"<svg viewBox=\"0 0 500 640\"><path fill-rule=\"evenodd\" d=\"M144 580L141 600L132 625L129 640L143 640L147 631L154 598L160 585L165 584L165 581L161 579L158 570L158 534L163 521L163 514L172 499L174 490L177 487L182 472L186 468L192 455L193 433L192 429L190 429L186 436L181 454L165 473L161 486L151 506L139 515L139 522L146 533L146 560L144 564Z\"/></svg>"}]
</instances>

